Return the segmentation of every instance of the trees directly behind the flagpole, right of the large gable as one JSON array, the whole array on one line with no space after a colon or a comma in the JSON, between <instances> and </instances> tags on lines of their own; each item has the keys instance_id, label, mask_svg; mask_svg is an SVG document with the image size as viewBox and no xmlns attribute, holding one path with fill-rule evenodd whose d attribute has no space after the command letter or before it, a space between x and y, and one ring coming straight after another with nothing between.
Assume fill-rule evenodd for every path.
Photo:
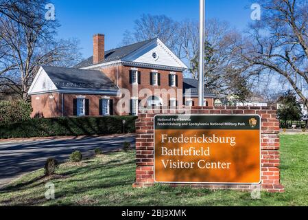
<instances>
[{"instance_id":1,"label":"trees directly behind the flagpole, right of the large gable","mask_svg":"<svg viewBox=\"0 0 308 220\"><path fill-rule=\"evenodd\" d=\"M244 101L250 96L250 74L246 74L247 67L235 56L233 41L238 36L241 34L226 22L216 19L207 22L204 79L206 87L218 97L236 96L239 101ZM198 78L198 50L194 54L190 72L193 78Z\"/></svg>"}]
</instances>

